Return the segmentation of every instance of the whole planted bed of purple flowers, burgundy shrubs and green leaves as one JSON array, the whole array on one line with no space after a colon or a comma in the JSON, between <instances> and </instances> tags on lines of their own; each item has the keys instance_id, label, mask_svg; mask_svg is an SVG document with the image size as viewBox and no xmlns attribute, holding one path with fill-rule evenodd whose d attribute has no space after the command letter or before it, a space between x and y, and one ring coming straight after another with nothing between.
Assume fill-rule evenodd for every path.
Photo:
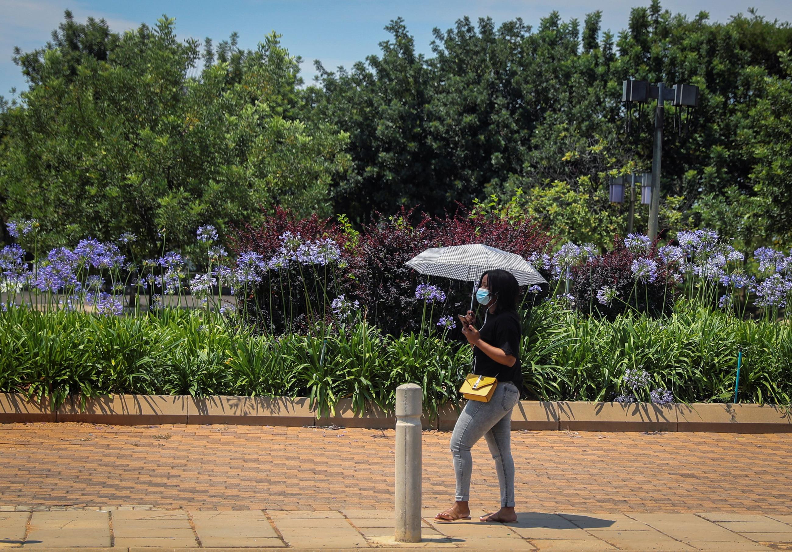
<instances>
[{"instance_id":1,"label":"whole planted bed of purple flowers, burgundy shrubs and green leaves","mask_svg":"<svg viewBox=\"0 0 792 552\"><path fill-rule=\"evenodd\" d=\"M55 405L107 393L306 396L326 413L342 399L356 412L390 409L396 386L416 382L434 416L470 364L453 317L470 284L429 283L403 263L428 246L480 241L522 254L550 280L522 300L524 398L727 402L736 391L743 402L790 403L784 253L762 248L751 260L706 230L661 247L633 234L603 255L574 244L549 253L549 237L508 217L413 224L402 211L360 234L343 218L281 215L241 231L234 256L209 225L197 232L200 259L172 251L129 262L131 234L86 238L35 264L5 246L0 390ZM35 250L35 223L12 224ZM17 305L23 288L35 304ZM200 308L154 300L142 310L135 300L185 292Z\"/></svg>"}]
</instances>

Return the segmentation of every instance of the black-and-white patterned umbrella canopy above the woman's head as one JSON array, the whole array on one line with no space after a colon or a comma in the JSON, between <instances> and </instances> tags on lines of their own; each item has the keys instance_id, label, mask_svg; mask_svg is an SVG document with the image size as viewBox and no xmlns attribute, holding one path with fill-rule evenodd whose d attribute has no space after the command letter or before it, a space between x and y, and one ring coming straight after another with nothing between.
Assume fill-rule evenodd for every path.
<instances>
[{"instance_id":1,"label":"black-and-white patterned umbrella canopy above the woman's head","mask_svg":"<svg viewBox=\"0 0 792 552\"><path fill-rule=\"evenodd\" d=\"M516 277L521 286L546 284L523 257L480 243L468 246L432 247L405 263L421 274L478 282L484 272L502 268Z\"/></svg>"}]
</instances>

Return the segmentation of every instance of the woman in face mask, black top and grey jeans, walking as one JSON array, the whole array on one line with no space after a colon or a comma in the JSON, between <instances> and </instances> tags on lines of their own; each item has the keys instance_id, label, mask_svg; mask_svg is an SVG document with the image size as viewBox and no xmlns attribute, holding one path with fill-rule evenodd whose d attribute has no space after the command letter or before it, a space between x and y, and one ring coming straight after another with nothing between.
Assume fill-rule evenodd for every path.
<instances>
[{"instance_id":1,"label":"woman in face mask, black top and grey jeans, walking","mask_svg":"<svg viewBox=\"0 0 792 552\"><path fill-rule=\"evenodd\" d=\"M512 409L520 400L523 375L520 369L520 318L517 299L520 284L511 272L490 270L478 283L476 299L486 307L481 329L474 327L475 316L468 310L462 333L473 347L473 373L497 378L489 402L468 401L456 421L451 436L451 455L456 474L455 503L440 512L435 520L449 523L470 520L470 476L473 457L470 449L483 437L495 460L501 485L501 509L479 518L481 521L508 523L517 520L514 512L514 460L512 459Z\"/></svg>"}]
</instances>

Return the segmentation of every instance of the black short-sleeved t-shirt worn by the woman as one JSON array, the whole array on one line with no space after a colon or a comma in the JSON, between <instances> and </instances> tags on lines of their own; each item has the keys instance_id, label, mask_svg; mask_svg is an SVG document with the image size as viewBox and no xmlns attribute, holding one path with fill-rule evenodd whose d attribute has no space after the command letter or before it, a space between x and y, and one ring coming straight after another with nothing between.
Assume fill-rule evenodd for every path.
<instances>
[{"instance_id":1,"label":"black short-sleeved t-shirt worn by the woman","mask_svg":"<svg viewBox=\"0 0 792 552\"><path fill-rule=\"evenodd\" d=\"M507 355L516 357L514 366L499 364L489 358L480 348L473 348L473 373L497 378L499 382L511 382L517 389L523 390L523 371L520 367L520 337L522 325L520 318L513 310L504 310L497 314L488 314L482 327L478 329L482 340L493 347L503 349Z\"/></svg>"}]
</instances>

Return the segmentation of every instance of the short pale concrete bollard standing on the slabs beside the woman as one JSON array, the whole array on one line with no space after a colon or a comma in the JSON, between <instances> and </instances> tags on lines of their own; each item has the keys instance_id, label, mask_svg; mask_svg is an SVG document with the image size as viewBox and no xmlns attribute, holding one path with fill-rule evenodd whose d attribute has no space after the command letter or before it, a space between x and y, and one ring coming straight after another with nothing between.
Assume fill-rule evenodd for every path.
<instances>
[{"instance_id":1,"label":"short pale concrete bollard standing on the slabs beside the woman","mask_svg":"<svg viewBox=\"0 0 792 552\"><path fill-rule=\"evenodd\" d=\"M398 542L421 542L421 386L396 388L396 531Z\"/></svg>"}]
</instances>

